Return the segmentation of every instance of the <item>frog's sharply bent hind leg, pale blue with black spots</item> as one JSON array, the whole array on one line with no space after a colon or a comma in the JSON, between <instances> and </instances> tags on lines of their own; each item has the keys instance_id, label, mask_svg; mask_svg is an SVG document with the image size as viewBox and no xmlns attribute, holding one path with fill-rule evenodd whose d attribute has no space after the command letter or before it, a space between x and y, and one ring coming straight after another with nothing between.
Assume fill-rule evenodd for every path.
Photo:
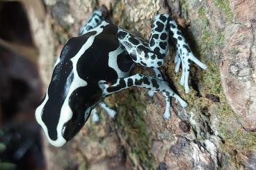
<instances>
[{"instance_id":1,"label":"frog's sharply bent hind leg, pale blue with black spots","mask_svg":"<svg viewBox=\"0 0 256 170\"><path fill-rule=\"evenodd\" d=\"M189 92L189 60L192 60L202 69L206 69L200 60L193 56L189 44L182 36L182 32L177 28L176 22L167 14L157 15L150 35L150 42L135 37L131 33L118 29L118 40L125 46L131 58L136 63L140 63L145 67L161 67L168 51L168 38L172 37L177 48L175 56L175 71L179 70L182 64L181 84L184 85L186 93Z\"/></svg>"}]
</instances>

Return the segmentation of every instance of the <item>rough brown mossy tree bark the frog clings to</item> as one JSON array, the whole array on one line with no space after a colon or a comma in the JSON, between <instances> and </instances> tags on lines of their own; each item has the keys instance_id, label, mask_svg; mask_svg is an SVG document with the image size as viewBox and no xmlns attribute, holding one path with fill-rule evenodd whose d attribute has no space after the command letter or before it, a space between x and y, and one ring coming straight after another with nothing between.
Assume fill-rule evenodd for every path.
<instances>
[{"instance_id":1,"label":"rough brown mossy tree bark the frog clings to","mask_svg":"<svg viewBox=\"0 0 256 170\"><path fill-rule=\"evenodd\" d=\"M138 88L114 94L106 102L117 110L115 119L102 111L99 123L89 120L63 148L45 142L49 169L256 169L256 2L45 0L56 49L45 58L58 56L102 4L112 9L113 22L145 40L154 16L169 12L208 69L193 65L185 94L170 47L161 70L189 106L173 101L172 119L165 120L161 94L150 98ZM47 65L42 73L54 64ZM143 67L135 71L152 74Z\"/></svg>"}]
</instances>

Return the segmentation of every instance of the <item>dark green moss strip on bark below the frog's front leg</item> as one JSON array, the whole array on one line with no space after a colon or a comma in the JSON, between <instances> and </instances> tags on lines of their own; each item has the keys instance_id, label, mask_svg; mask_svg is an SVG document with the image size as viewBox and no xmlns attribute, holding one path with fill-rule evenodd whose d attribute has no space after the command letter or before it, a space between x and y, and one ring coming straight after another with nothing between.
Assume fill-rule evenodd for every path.
<instances>
[{"instance_id":1,"label":"dark green moss strip on bark below the frog's front leg","mask_svg":"<svg viewBox=\"0 0 256 170\"><path fill-rule=\"evenodd\" d=\"M131 151L128 153L129 158L134 162L135 167L139 163L145 169L152 169L154 167L154 157L150 152L151 135L147 131L147 124L144 121L145 105L132 94L123 93L125 92L114 94L113 97L120 99L120 95L127 96L118 103L120 105L118 106L117 121L123 137L131 146Z\"/></svg>"}]
</instances>

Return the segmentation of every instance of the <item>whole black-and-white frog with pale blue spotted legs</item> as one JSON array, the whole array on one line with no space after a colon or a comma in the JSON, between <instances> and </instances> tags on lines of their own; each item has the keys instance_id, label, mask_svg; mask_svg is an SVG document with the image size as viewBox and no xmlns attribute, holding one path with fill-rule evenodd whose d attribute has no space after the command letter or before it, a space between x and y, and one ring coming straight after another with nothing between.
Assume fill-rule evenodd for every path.
<instances>
[{"instance_id":1,"label":"whole black-and-white frog with pale blue spotted legs","mask_svg":"<svg viewBox=\"0 0 256 170\"><path fill-rule=\"evenodd\" d=\"M181 84L189 92L189 60L202 69L189 49L189 44L169 15L157 15L149 43L104 20L99 10L81 28L78 37L67 41L56 61L45 98L35 111L35 117L54 146L63 146L76 135L90 116L90 112L107 96L132 86L161 92L166 98L163 117L170 118L170 97L182 107L183 101L163 80L158 67L168 52L168 39L176 45L176 68L182 64ZM134 63L152 67L157 77L130 75ZM112 112L114 116L115 112ZM97 118L97 117L96 117ZM96 119L95 118L95 119Z\"/></svg>"}]
</instances>

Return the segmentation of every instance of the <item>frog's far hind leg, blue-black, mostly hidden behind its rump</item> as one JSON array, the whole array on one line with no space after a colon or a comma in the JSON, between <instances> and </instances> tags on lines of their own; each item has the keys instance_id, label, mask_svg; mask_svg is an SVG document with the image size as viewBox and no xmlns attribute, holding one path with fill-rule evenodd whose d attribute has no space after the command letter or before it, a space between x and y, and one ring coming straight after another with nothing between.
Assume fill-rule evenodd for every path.
<instances>
[{"instance_id":1,"label":"frog's far hind leg, blue-black, mostly hidden behind its rump","mask_svg":"<svg viewBox=\"0 0 256 170\"><path fill-rule=\"evenodd\" d=\"M105 19L102 11L95 10L95 12L93 12L93 15L90 17L89 21L80 29L79 35L87 33L88 31L90 31L90 29L95 28L104 20Z\"/></svg>"}]
</instances>

